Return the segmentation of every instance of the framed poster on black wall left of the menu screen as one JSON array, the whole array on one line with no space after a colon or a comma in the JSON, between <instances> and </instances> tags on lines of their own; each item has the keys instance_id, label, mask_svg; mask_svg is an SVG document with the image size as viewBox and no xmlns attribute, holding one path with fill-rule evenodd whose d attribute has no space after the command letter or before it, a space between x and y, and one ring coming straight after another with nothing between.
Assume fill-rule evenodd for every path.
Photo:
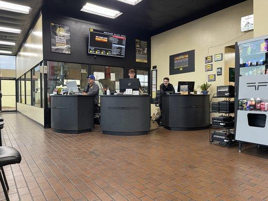
<instances>
[{"instance_id":1,"label":"framed poster on black wall left of the menu screen","mask_svg":"<svg viewBox=\"0 0 268 201\"><path fill-rule=\"evenodd\" d=\"M70 27L50 23L51 52L70 54Z\"/></svg>"}]
</instances>

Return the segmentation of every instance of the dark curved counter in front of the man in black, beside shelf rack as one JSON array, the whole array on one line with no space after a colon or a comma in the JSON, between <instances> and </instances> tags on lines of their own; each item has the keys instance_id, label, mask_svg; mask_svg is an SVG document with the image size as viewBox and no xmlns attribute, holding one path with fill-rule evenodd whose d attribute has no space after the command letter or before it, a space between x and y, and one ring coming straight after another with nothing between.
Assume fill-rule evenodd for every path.
<instances>
[{"instance_id":1,"label":"dark curved counter in front of the man in black, beside shelf rack","mask_svg":"<svg viewBox=\"0 0 268 201\"><path fill-rule=\"evenodd\" d=\"M210 126L209 95L162 95L162 124L176 131Z\"/></svg>"}]
</instances>

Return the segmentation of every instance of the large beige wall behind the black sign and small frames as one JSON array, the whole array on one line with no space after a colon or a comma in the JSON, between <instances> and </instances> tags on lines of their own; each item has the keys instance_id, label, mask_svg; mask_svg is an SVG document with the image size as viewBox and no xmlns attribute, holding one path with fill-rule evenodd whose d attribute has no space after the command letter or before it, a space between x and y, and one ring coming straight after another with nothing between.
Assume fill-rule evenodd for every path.
<instances>
[{"instance_id":1,"label":"large beige wall behind the black sign and small frames","mask_svg":"<svg viewBox=\"0 0 268 201\"><path fill-rule=\"evenodd\" d=\"M151 64L157 66L157 89L163 77L169 77L175 86L178 81L195 81L197 88L207 81L209 74L217 74L217 67L224 69L225 47L253 37L253 30L240 32L241 17L252 13L253 1L248 0L151 37ZM195 50L195 72L169 75L169 55L189 50ZM218 53L223 53L223 60L213 62L213 71L205 72L205 56L214 57ZM223 70L222 76L216 76L215 82L210 82L210 94L215 93L217 85L225 84L226 71L228 69ZM154 107L151 111L155 111Z\"/></svg>"}]
</instances>

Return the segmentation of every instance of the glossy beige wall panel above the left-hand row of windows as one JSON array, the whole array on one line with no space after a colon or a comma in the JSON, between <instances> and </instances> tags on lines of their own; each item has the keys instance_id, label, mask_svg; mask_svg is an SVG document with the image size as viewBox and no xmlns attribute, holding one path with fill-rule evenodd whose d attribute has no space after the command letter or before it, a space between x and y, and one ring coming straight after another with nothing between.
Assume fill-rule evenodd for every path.
<instances>
[{"instance_id":1,"label":"glossy beige wall panel above the left-hand row of windows","mask_svg":"<svg viewBox=\"0 0 268 201\"><path fill-rule=\"evenodd\" d=\"M42 16L16 57L16 77L33 68L43 60Z\"/></svg>"}]
</instances>

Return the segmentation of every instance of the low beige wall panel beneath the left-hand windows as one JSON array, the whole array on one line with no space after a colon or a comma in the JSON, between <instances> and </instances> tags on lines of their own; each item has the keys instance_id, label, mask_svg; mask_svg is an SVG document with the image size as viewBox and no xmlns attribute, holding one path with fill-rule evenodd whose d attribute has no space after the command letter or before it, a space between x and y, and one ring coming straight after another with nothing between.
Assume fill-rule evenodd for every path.
<instances>
[{"instance_id":1,"label":"low beige wall panel beneath the left-hand windows","mask_svg":"<svg viewBox=\"0 0 268 201\"><path fill-rule=\"evenodd\" d=\"M17 111L44 126L44 109L17 103Z\"/></svg>"}]
</instances>

